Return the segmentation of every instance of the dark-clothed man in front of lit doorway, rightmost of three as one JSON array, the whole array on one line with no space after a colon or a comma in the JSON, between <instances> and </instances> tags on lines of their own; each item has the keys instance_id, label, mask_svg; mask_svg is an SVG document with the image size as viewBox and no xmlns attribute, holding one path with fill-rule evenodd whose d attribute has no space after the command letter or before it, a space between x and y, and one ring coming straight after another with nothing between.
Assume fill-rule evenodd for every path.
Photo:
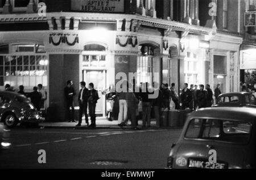
<instances>
[{"instance_id":1,"label":"dark-clothed man in front of lit doorway, rightmost of three","mask_svg":"<svg viewBox=\"0 0 256 180\"><path fill-rule=\"evenodd\" d=\"M90 121L91 124L89 127L96 127L96 114L95 114L95 109L96 109L96 104L99 99L98 97L98 91L94 89L94 84L90 83L89 84L89 98L88 98L88 105L89 105L89 115L90 115Z\"/></svg>"}]
</instances>

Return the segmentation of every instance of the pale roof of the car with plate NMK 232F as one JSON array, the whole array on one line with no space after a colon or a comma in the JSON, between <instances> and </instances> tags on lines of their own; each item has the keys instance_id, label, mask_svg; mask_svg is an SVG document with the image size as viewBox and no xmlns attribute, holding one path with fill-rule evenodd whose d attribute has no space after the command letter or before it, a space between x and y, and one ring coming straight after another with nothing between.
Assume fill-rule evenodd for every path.
<instances>
[{"instance_id":1,"label":"pale roof of the car with plate NMK 232F","mask_svg":"<svg viewBox=\"0 0 256 180\"><path fill-rule=\"evenodd\" d=\"M256 121L256 109L247 107L214 107L199 109L189 115L189 119L209 118L225 119L230 121L250 122Z\"/></svg>"}]
</instances>

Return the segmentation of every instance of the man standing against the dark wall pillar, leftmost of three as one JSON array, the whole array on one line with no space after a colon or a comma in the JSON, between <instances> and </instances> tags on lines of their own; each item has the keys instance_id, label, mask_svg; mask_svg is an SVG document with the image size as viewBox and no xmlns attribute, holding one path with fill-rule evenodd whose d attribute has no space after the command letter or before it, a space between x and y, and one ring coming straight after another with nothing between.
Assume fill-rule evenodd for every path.
<instances>
[{"instance_id":1,"label":"man standing against the dark wall pillar, leftmost of three","mask_svg":"<svg viewBox=\"0 0 256 180\"><path fill-rule=\"evenodd\" d=\"M75 108L73 97L76 96L75 89L73 88L73 83L71 80L68 80L67 86L64 88L64 94L66 98L66 112L68 113L68 122L76 122L75 121ZM70 111L71 108L71 111Z\"/></svg>"}]
</instances>

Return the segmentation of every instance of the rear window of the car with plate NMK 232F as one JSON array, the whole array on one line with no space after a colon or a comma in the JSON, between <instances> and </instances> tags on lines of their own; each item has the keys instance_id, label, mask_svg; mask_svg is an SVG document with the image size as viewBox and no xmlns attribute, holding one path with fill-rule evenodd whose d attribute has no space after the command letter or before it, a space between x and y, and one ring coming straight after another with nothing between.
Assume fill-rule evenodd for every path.
<instances>
[{"instance_id":1,"label":"rear window of the car with plate NMK 232F","mask_svg":"<svg viewBox=\"0 0 256 180\"><path fill-rule=\"evenodd\" d=\"M251 124L221 119L192 119L185 133L188 139L217 140L247 144L251 136Z\"/></svg>"}]
</instances>

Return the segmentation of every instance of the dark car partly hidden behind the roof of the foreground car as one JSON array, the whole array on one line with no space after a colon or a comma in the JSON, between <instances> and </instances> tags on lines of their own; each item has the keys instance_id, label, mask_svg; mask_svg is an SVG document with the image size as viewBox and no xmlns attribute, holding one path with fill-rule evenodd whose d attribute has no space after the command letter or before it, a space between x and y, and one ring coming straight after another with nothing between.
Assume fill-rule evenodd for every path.
<instances>
[{"instance_id":1,"label":"dark car partly hidden behind the roof of the foreground car","mask_svg":"<svg viewBox=\"0 0 256 180\"><path fill-rule=\"evenodd\" d=\"M248 92L226 93L218 96L218 107L244 107L250 106L256 108L256 100L253 94Z\"/></svg>"}]
</instances>

